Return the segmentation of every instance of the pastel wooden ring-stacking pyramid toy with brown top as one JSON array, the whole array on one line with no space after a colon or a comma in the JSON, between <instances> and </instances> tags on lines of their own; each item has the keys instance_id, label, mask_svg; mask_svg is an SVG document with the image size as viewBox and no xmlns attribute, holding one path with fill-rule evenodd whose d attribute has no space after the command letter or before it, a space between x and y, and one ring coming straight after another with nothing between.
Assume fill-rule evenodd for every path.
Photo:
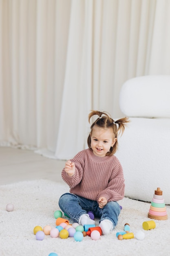
<instances>
[{"instance_id":1,"label":"pastel wooden ring-stacking pyramid toy with brown top","mask_svg":"<svg viewBox=\"0 0 170 256\"><path fill-rule=\"evenodd\" d=\"M160 188L155 190L155 194L153 195L152 202L150 205L150 209L148 212L148 218L155 220L167 220L168 215L164 203L163 192Z\"/></svg>"}]
</instances>

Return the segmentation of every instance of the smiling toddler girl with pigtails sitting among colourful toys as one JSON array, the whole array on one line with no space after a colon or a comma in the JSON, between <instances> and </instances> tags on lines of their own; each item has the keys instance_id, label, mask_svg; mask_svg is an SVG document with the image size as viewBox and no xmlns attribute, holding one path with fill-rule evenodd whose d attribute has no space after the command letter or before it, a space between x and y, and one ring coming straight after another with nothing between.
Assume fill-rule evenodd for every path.
<instances>
[{"instance_id":1,"label":"smiling toddler girl with pigtails sitting among colourful toys","mask_svg":"<svg viewBox=\"0 0 170 256\"><path fill-rule=\"evenodd\" d=\"M88 149L80 151L66 162L63 180L70 186L70 193L60 197L60 209L79 225L95 224L88 215L93 211L99 218L102 234L110 233L117 225L120 206L124 198L124 174L117 157L117 135L124 132L128 118L114 121L107 112L92 111L98 115L88 135Z\"/></svg>"}]
</instances>

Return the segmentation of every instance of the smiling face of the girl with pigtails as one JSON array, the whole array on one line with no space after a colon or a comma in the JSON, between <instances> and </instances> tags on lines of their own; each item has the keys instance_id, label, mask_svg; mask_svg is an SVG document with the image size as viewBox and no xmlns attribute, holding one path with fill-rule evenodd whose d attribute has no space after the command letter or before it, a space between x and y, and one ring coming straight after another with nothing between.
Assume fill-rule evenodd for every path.
<instances>
[{"instance_id":1,"label":"smiling face of the girl with pigtails","mask_svg":"<svg viewBox=\"0 0 170 256\"><path fill-rule=\"evenodd\" d=\"M104 129L96 125L93 126L91 132L91 148L94 155L105 157L110 147L113 147L116 141L117 138L115 138L112 128Z\"/></svg>"}]
</instances>

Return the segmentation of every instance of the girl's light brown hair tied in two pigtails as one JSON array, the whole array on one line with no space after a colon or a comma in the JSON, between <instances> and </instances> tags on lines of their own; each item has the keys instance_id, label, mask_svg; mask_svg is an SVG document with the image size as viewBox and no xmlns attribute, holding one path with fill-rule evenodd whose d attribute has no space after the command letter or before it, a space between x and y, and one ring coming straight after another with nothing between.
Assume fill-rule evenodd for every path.
<instances>
[{"instance_id":1,"label":"girl's light brown hair tied in two pigtails","mask_svg":"<svg viewBox=\"0 0 170 256\"><path fill-rule=\"evenodd\" d=\"M95 125L104 129L112 128L115 138L117 138L118 134L121 134L121 135L123 134L126 123L130 122L128 117L124 117L124 118L118 119L117 121L114 121L108 112L100 112L100 111L92 110L91 113L88 115L89 123L90 123L91 117L93 117L94 115L98 115L99 117L91 125L91 132L88 135L87 143L88 143L88 148L90 149L91 149L91 133ZM116 153L117 147L118 147L118 141L115 142L113 147L110 147L110 150L109 152L106 153L106 155L114 155Z\"/></svg>"}]
</instances>

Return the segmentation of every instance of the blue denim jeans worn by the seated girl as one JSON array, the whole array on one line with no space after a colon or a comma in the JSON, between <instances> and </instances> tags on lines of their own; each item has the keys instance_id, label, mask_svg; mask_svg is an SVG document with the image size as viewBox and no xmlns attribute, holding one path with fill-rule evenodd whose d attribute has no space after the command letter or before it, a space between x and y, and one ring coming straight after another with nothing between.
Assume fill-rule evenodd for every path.
<instances>
[{"instance_id":1,"label":"blue denim jeans worn by the seated girl","mask_svg":"<svg viewBox=\"0 0 170 256\"><path fill-rule=\"evenodd\" d=\"M93 211L94 216L102 220L110 220L113 228L117 225L120 206L117 202L108 202L102 209L99 208L97 201L89 200L71 193L63 194L59 199L60 209L68 215L73 222L79 222L82 214Z\"/></svg>"}]
</instances>

